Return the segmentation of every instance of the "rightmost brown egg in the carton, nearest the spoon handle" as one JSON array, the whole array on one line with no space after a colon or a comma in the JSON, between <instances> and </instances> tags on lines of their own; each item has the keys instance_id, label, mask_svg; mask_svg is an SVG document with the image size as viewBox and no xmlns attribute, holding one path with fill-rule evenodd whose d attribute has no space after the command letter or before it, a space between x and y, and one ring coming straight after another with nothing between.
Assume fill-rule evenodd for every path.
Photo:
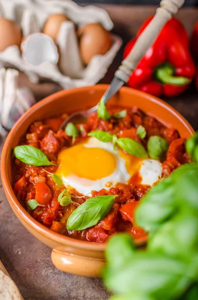
<instances>
[{"instance_id":1,"label":"rightmost brown egg in the carton, nearest the spoon handle","mask_svg":"<svg viewBox=\"0 0 198 300\"><path fill-rule=\"evenodd\" d=\"M105 54L111 47L111 34L98 23L90 23L78 30L80 55L87 65L96 54Z\"/></svg>"}]
</instances>

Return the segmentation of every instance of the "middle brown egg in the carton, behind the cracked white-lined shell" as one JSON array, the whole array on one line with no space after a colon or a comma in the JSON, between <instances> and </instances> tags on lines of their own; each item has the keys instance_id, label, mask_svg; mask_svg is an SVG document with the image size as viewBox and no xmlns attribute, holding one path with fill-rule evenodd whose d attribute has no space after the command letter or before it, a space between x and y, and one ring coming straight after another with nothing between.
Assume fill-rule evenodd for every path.
<instances>
[{"instance_id":1,"label":"middle brown egg in the carton, behind the cracked white-lined shell","mask_svg":"<svg viewBox=\"0 0 198 300\"><path fill-rule=\"evenodd\" d=\"M70 21L70 19L63 13L51 14L46 19L42 32L51 36L51 38L53 38L53 40L55 41L60 25L64 21Z\"/></svg>"}]
</instances>

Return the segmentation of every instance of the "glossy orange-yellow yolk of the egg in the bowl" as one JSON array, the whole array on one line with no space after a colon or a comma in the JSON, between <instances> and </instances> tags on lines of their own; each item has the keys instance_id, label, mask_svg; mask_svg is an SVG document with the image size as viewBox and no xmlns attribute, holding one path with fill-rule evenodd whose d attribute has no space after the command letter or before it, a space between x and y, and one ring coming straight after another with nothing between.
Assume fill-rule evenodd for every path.
<instances>
[{"instance_id":1,"label":"glossy orange-yellow yolk of the egg in the bowl","mask_svg":"<svg viewBox=\"0 0 198 300\"><path fill-rule=\"evenodd\" d=\"M102 148L87 148L82 144L64 149L58 155L57 175L67 177L75 174L81 178L97 180L113 173L116 158Z\"/></svg>"}]
</instances>

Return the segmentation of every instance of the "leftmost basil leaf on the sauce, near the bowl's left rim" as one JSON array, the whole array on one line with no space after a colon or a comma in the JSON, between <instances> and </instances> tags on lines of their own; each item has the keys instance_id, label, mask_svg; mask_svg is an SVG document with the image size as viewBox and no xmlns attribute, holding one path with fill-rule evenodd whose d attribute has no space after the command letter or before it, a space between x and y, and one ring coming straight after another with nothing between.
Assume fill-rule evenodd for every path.
<instances>
[{"instance_id":1,"label":"leftmost basil leaf on the sauce, near the bowl's left rim","mask_svg":"<svg viewBox=\"0 0 198 300\"><path fill-rule=\"evenodd\" d=\"M14 155L20 161L30 165L57 165L53 162L50 162L47 156L41 150L29 145L16 146L14 148Z\"/></svg>"}]
</instances>

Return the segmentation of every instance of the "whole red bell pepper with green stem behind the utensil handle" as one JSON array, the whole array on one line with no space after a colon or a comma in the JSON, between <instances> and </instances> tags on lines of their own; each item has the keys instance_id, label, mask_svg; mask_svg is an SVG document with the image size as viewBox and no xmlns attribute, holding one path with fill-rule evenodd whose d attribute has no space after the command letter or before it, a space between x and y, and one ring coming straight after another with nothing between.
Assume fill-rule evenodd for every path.
<instances>
[{"instance_id":1,"label":"whole red bell pepper with green stem behind the utensil handle","mask_svg":"<svg viewBox=\"0 0 198 300\"><path fill-rule=\"evenodd\" d=\"M124 58L152 18L143 23L137 36L126 45ZM156 96L176 96L187 89L194 75L187 32L179 20L172 18L132 72L128 85Z\"/></svg>"}]
</instances>

